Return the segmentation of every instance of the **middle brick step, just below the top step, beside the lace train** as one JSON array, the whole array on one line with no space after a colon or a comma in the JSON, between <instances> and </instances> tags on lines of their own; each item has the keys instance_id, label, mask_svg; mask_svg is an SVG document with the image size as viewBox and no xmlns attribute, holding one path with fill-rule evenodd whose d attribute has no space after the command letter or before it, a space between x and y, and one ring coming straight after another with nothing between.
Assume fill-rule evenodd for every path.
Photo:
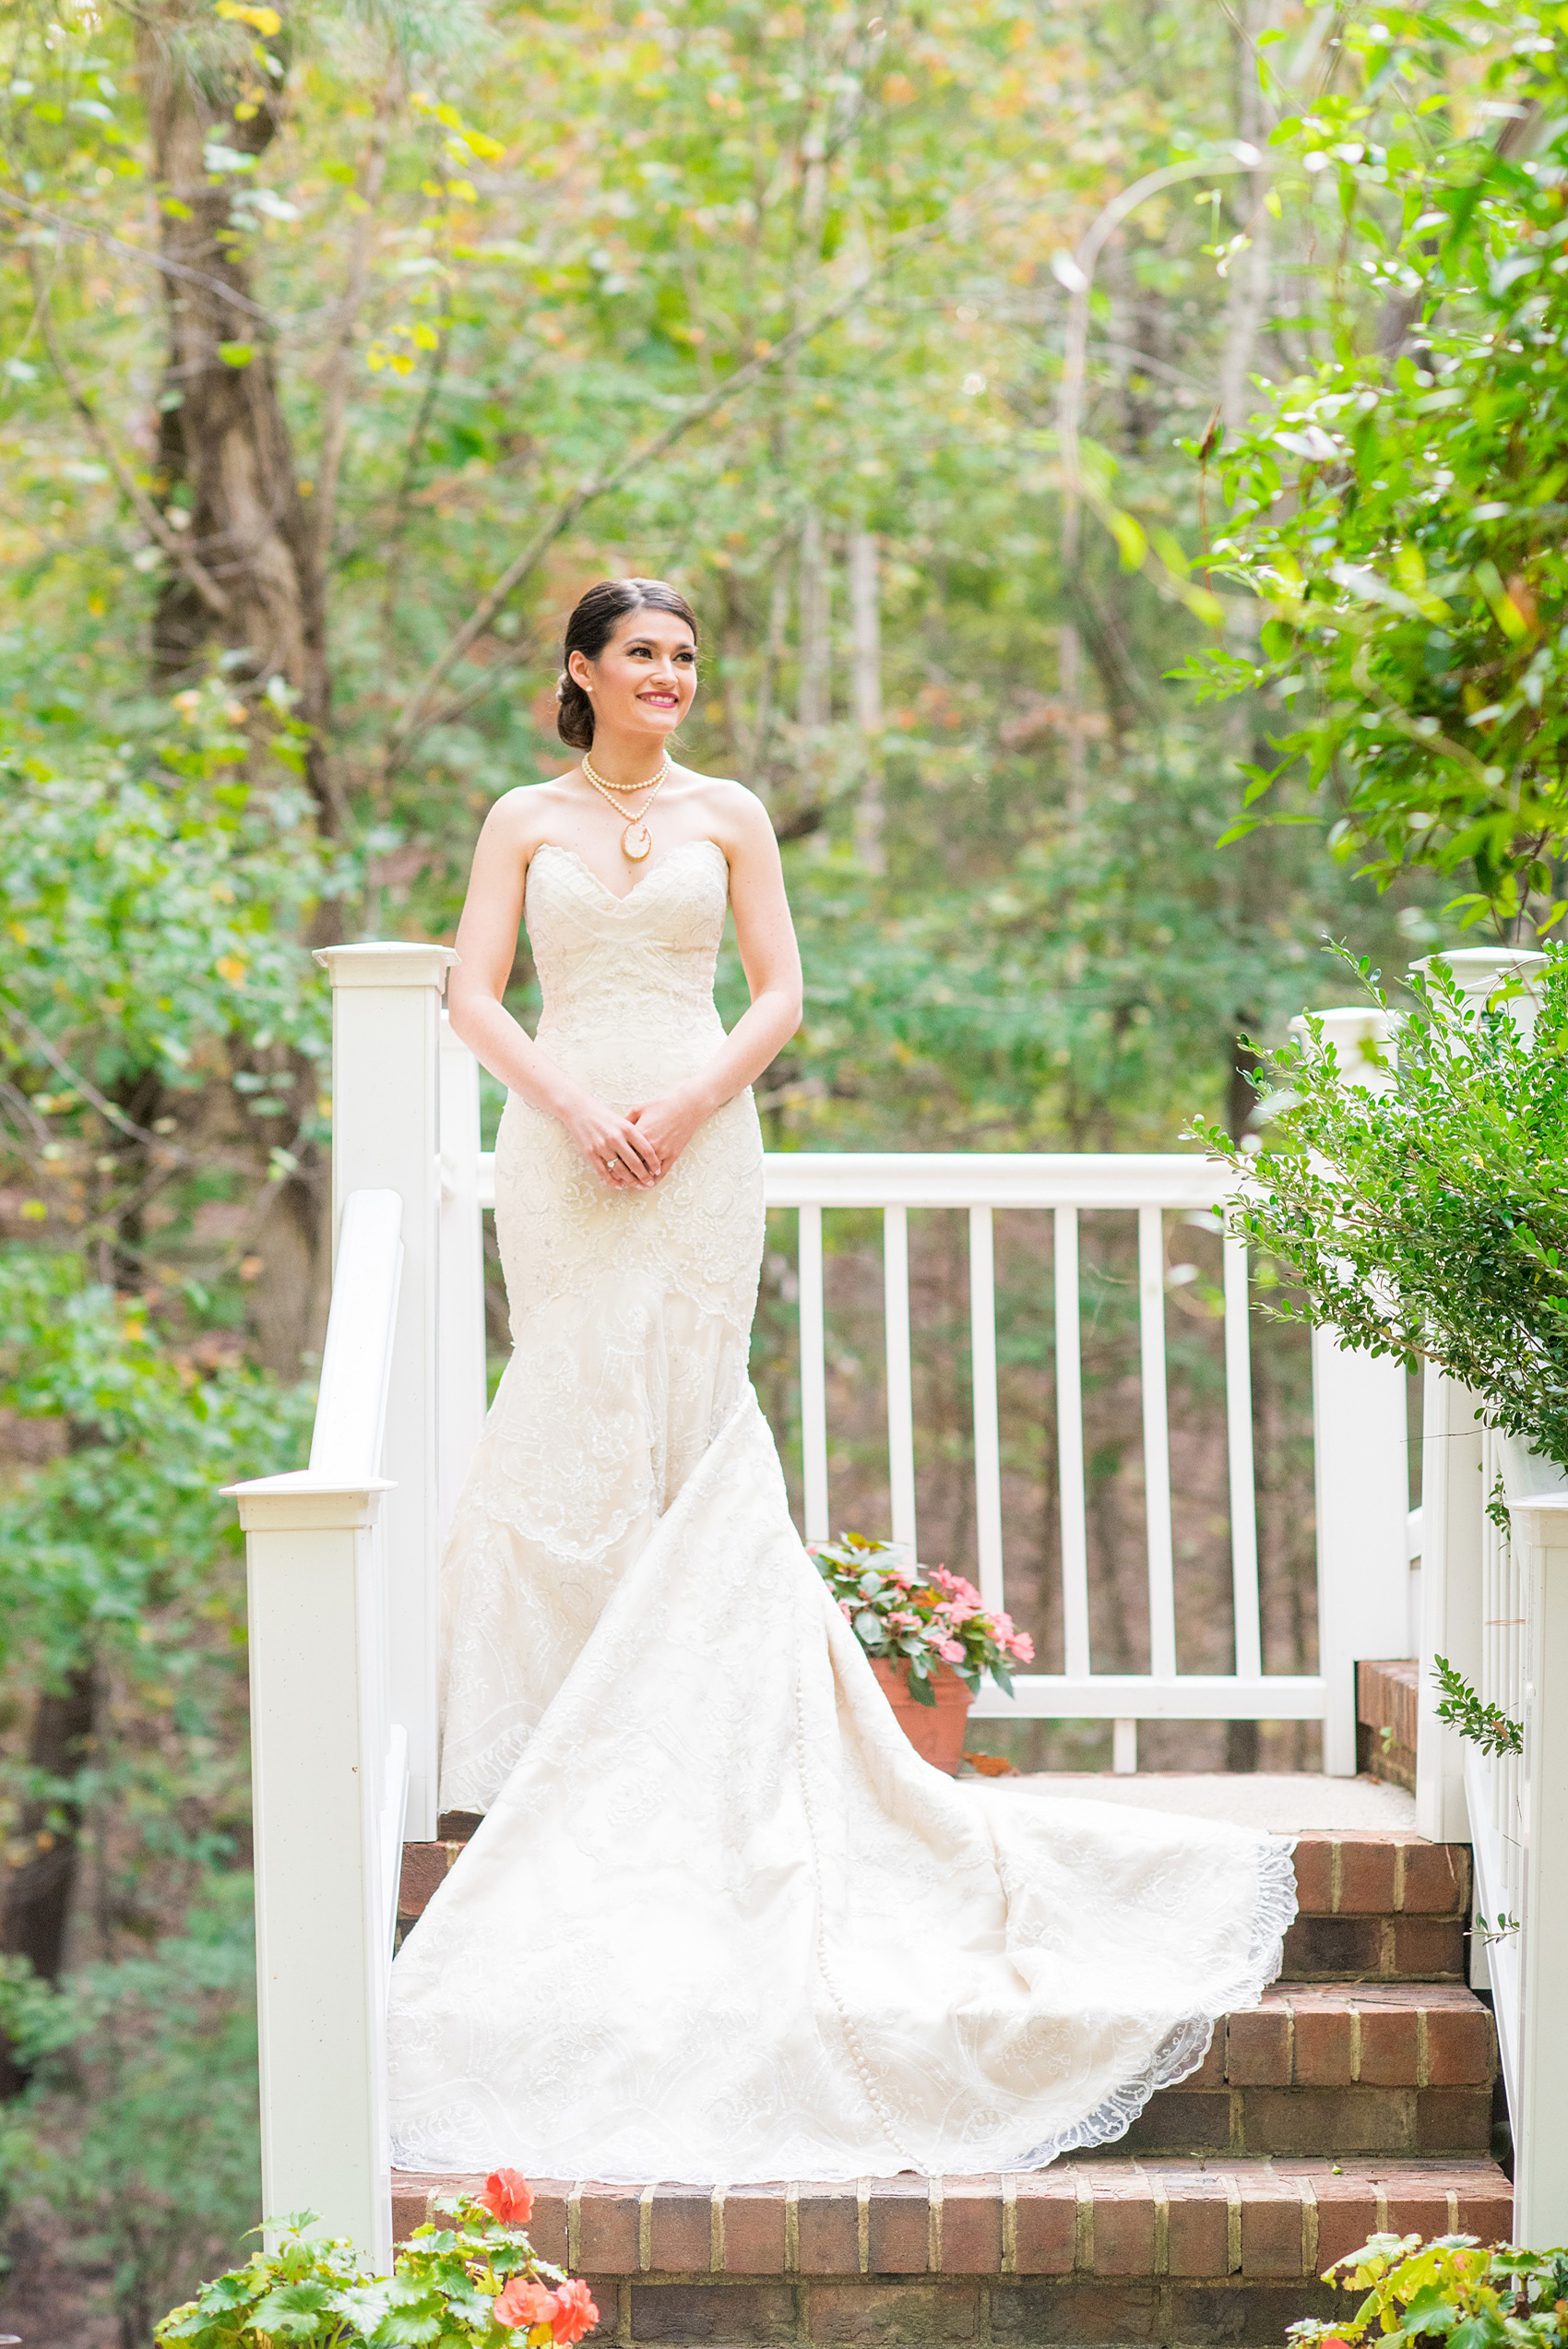
<instances>
[{"instance_id":1,"label":"middle brick step, just below the top step, beside the lace train","mask_svg":"<svg viewBox=\"0 0 1568 2349\"><path fill-rule=\"evenodd\" d=\"M1225 2015L1202 2072L1162 2088L1148 2154L1483 2154L1493 2018L1460 1983L1275 1983Z\"/></svg>"}]
</instances>

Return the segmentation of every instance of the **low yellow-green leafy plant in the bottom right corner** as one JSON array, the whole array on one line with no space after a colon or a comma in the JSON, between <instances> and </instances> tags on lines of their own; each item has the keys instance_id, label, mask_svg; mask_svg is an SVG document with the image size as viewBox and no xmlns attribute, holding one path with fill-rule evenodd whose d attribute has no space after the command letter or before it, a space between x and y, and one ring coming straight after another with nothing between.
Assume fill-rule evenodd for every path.
<instances>
[{"instance_id":1,"label":"low yellow-green leafy plant in the bottom right corner","mask_svg":"<svg viewBox=\"0 0 1568 2349\"><path fill-rule=\"evenodd\" d=\"M1350 2321L1291 2326L1300 2349L1556 2349L1568 2316L1568 2250L1488 2250L1474 2234L1376 2234L1338 2260L1326 2279L1364 2293Z\"/></svg>"}]
</instances>

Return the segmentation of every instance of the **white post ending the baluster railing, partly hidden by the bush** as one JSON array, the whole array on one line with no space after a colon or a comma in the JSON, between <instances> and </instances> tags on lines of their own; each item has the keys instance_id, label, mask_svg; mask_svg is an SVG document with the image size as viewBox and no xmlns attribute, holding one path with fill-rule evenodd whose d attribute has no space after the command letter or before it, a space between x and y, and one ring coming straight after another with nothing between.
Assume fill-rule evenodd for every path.
<instances>
[{"instance_id":1,"label":"white post ending the baluster railing, partly hidden by the bush","mask_svg":"<svg viewBox=\"0 0 1568 2349\"><path fill-rule=\"evenodd\" d=\"M1387 1092L1392 1022L1364 1005L1317 1012L1340 1073ZM1293 1022L1303 1031L1303 1022ZM1317 1485L1317 1658L1324 1675L1324 1771L1357 1771L1357 1663L1408 1651L1411 1438L1399 1362L1312 1332L1312 1454Z\"/></svg>"}]
</instances>

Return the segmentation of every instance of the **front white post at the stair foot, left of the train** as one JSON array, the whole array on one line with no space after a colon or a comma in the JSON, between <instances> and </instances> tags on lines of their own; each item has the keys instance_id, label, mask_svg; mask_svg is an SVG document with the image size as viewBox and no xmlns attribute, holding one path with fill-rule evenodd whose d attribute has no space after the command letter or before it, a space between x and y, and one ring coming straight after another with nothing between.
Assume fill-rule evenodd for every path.
<instances>
[{"instance_id":1,"label":"front white post at the stair foot, left of the train","mask_svg":"<svg viewBox=\"0 0 1568 2349\"><path fill-rule=\"evenodd\" d=\"M237 1487L246 1536L261 2175L270 2222L315 2210L392 2264L387 2189L383 1478ZM329 1865L322 1865L326 1860Z\"/></svg>"}]
</instances>

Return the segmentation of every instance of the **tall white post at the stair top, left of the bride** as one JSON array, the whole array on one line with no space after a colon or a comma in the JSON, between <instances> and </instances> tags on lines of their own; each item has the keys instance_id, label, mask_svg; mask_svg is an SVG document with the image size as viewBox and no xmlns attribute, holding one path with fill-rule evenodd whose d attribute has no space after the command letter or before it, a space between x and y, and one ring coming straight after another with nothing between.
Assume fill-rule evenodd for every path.
<instances>
[{"instance_id":1,"label":"tall white post at the stair top, left of the bride","mask_svg":"<svg viewBox=\"0 0 1568 2349\"><path fill-rule=\"evenodd\" d=\"M392 1719L408 1736L408 1835L437 1832L437 1264L441 989L451 947L324 947L333 987L333 1229L350 1191L404 1203L404 1285L387 1388Z\"/></svg>"}]
</instances>

